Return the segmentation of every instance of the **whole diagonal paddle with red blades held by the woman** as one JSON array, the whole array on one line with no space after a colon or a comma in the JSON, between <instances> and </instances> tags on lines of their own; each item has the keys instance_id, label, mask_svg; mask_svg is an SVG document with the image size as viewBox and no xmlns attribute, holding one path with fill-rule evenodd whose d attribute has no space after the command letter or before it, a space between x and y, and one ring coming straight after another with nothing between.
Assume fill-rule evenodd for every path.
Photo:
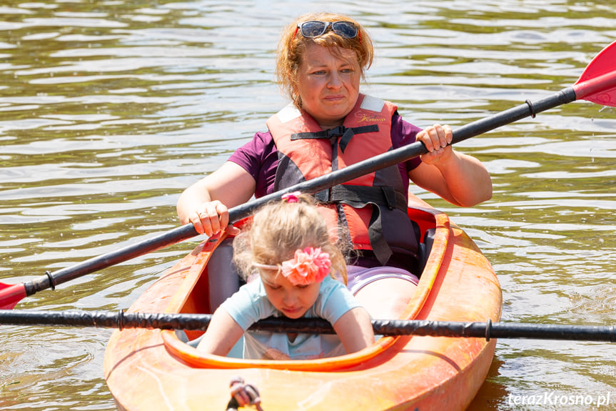
<instances>
[{"instance_id":1,"label":"whole diagonal paddle with red blades held by the woman","mask_svg":"<svg viewBox=\"0 0 616 411\"><path fill-rule=\"evenodd\" d=\"M462 142L465 139L475 137L479 134L504 126L505 124L510 124L524 117L534 117L535 114L539 112L560 106L561 104L570 103L577 99L585 99L597 104L614 107L616 105L616 71L614 70L614 61L616 61L616 41L603 49L592 61L590 61L590 64L588 64L575 85L562 89L539 101L531 102L527 100L525 104L460 127L453 132L453 141L451 144ZM418 157L426 152L428 152L428 150L421 142L415 142L408 146L400 147L399 149L366 159L363 162L358 162L336 172L268 194L265 197L261 197L241 206L233 207L229 210L230 220L231 222L236 222L238 219L247 217L256 207L260 207L271 200L279 199L282 194L287 192L320 192L323 189L348 182L351 179L375 172L378 169L405 162L408 159ZM0 282L0 309L11 310L15 307L17 302L24 297L43 289L54 289L56 285L63 282L98 271L99 269L110 267L113 264L127 261L128 259L138 257L156 249L176 244L177 242L195 237L196 235L197 232L193 225L186 224L176 229L171 229L163 234L158 234L156 237L145 239L142 242L128 245L127 247L103 254L99 257L87 259L84 262L59 269L56 272L51 273L48 271L45 275L30 282L20 284L4 284Z\"/></svg>"}]
</instances>

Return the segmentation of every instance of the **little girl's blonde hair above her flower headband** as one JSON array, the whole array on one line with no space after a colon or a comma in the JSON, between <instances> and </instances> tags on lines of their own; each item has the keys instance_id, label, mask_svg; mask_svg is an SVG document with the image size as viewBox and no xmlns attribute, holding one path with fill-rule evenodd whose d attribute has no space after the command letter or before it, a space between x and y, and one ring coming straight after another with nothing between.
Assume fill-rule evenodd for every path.
<instances>
[{"instance_id":1,"label":"little girl's blonde hair above her flower headband","mask_svg":"<svg viewBox=\"0 0 616 411\"><path fill-rule=\"evenodd\" d=\"M343 253L331 241L325 219L307 194L298 196L297 202L282 200L261 207L247 229L233 240L233 263L247 279L256 272L253 262L281 264L293 259L297 249L306 247L320 247L327 252L332 262L330 275L340 277L346 284Z\"/></svg>"}]
</instances>

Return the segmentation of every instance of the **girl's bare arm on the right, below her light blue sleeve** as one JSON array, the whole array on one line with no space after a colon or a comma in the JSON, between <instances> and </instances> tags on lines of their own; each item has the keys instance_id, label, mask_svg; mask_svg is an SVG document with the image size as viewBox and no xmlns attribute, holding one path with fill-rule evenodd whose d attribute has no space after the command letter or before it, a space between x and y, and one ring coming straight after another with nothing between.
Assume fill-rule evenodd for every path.
<instances>
[{"instance_id":1,"label":"girl's bare arm on the right, below her light blue sleeve","mask_svg":"<svg viewBox=\"0 0 616 411\"><path fill-rule=\"evenodd\" d=\"M345 312L333 325L346 352L363 350L374 344L374 331L370 315L363 307Z\"/></svg>"}]
</instances>

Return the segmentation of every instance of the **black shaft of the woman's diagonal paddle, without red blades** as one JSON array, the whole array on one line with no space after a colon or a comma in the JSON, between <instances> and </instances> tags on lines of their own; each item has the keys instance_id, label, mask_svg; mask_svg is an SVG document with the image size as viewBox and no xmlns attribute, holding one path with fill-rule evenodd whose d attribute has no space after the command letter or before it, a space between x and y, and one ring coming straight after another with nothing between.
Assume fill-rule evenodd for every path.
<instances>
[{"instance_id":1,"label":"black shaft of the woman's diagonal paddle, without red blades","mask_svg":"<svg viewBox=\"0 0 616 411\"><path fill-rule=\"evenodd\" d=\"M566 89L557 91L555 94L547 96L544 99L540 99L539 101L535 101L534 103L527 100L525 104L520 104L517 107L513 107L498 114L493 114L492 116L485 117L484 119L476 120L475 122L466 124L459 129L455 129L453 131L453 140L451 144L463 142L465 139L470 139L470 137L478 136L479 134L489 132L490 130L504 126L505 124L516 122L517 120L525 117L535 117L535 114L537 113L544 112L547 109L552 109L553 107L560 106L561 104L570 103L571 101L575 101L575 99L575 91L572 87L567 87ZM247 202L246 204L239 205L238 207L233 207L229 209L229 219L231 222L236 222L239 219L248 217L257 207L261 207L267 202L280 199L283 194L288 192L299 191L314 194L323 189L329 189L337 184L342 184L343 182L348 182L352 179L361 177L364 174L408 161L409 159L418 157L427 152L428 149L425 148L425 145L422 142L408 144L405 147L400 147L398 149L391 150L390 152L379 154L378 156L365 159L362 162L352 164L335 172L325 174L315 179L310 179L306 182L301 182L292 187L282 189L278 192L274 192L251 202ZM136 244L131 244L121 249L117 249L116 251L108 252L91 259L86 259L84 262L59 269L56 272L52 273L48 271L44 276L34 279L31 282L24 283L26 295L32 295L47 288L54 289L57 284L68 282L71 279L81 277L85 274L90 274L91 272L96 272L99 269L111 267L114 264L128 261L129 259L139 257L143 254L153 252L156 249L161 249L171 244L176 244L185 239L195 237L196 235L198 235L198 233L194 229L193 224L189 223L176 229L171 229L163 234L158 234L150 239L145 239Z\"/></svg>"}]
</instances>

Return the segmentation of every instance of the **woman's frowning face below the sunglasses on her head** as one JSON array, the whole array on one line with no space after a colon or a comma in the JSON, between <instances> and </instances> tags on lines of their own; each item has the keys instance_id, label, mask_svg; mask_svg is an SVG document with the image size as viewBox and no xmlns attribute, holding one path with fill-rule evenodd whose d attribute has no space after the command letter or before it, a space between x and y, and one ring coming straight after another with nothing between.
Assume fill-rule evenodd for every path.
<instances>
[{"instance_id":1,"label":"woman's frowning face below the sunglasses on her head","mask_svg":"<svg viewBox=\"0 0 616 411\"><path fill-rule=\"evenodd\" d=\"M361 69L350 49L329 49L310 43L298 69L297 94L302 108L323 129L343 124L359 95Z\"/></svg>"}]
</instances>

